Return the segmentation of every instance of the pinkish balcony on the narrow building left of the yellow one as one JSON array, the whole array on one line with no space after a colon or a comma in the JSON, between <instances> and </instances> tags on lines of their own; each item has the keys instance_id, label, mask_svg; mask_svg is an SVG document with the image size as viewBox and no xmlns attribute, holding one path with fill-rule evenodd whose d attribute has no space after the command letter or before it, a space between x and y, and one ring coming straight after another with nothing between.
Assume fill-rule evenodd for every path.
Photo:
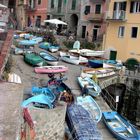
<instances>
[{"instance_id":1,"label":"pinkish balcony on the narrow building left of the yellow one","mask_svg":"<svg viewBox=\"0 0 140 140\"><path fill-rule=\"evenodd\" d=\"M92 21L92 22L102 22L104 19L104 14L95 14L95 13L90 13L86 15L87 20Z\"/></svg>"}]
</instances>

